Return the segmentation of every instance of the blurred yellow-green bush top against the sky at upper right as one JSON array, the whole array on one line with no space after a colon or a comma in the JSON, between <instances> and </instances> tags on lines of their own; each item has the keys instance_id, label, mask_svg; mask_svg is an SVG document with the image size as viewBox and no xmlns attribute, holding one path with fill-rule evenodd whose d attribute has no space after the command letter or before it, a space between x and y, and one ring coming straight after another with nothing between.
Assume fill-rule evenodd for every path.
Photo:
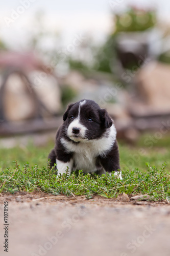
<instances>
[{"instance_id":1,"label":"blurred yellow-green bush top against the sky at upper right","mask_svg":"<svg viewBox=\"0 0 170 256\"><path fill-rule=\"evenodd\" d=\"M115 33L144 31L153 28L156 22L155 10L144 11L132 7L123 14L115 15Z\"/></svg>"}]
</instances>

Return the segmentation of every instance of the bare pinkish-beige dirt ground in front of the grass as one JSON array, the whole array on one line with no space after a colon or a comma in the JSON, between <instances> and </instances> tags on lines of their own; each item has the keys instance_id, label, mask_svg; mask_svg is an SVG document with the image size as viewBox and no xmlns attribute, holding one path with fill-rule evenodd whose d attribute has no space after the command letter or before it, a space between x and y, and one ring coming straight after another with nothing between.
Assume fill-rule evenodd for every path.
<instances>
[{"instance_id":1,"label":"bare pinkish-beige dirt ground in front of the grass","mask_svg":"<svg viewBox=\"0 0 170 256\"><path fill-rule=\"evenodd\" d=\"M1 255L170 255L170 205L165 202L49 197L1 194ZM8 253L3 248L4 201Z\"/></svg>"}]
</instances>

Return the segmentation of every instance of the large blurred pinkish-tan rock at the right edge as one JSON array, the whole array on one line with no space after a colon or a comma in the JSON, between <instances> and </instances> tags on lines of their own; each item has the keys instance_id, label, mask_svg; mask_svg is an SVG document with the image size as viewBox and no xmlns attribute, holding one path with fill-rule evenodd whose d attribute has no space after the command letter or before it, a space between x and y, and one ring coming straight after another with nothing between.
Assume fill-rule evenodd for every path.
<instances>
[{"instance_id":1,"label":"large blurred pinkish-tan rock at the right edge","mask_svg":"<svg viewBox=\"0 0 170 256\"><path fill-rule=\"evenodd\" d=\"M131 111L138 115L169 113L169 79L169 65L152 61L144 66L136 76L138 100L135 106L131 104Z\"/></svg>"}]
</instances>

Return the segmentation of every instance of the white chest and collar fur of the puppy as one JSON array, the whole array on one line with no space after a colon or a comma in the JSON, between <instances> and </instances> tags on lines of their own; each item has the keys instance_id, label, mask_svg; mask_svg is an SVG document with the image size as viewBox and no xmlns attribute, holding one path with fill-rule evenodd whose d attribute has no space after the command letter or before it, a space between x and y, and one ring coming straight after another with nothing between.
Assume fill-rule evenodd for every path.
<instances>
[{"instance_id":1,"label":"white chest and collar fur of the puppy","mask_svg":"<svg viewBox=\"0 0 170 256\"><path fill-rule=\"evenodd\" d=\"M75 169L83 169L84 173L95 172L96 157L105 156L114 144L116 139L116 130L114 124L108 129L106 134L100 139L85 141L80 143L72 143L61 138L67 153L74 153L73 160Z\"/></svg>"}]
</instances>

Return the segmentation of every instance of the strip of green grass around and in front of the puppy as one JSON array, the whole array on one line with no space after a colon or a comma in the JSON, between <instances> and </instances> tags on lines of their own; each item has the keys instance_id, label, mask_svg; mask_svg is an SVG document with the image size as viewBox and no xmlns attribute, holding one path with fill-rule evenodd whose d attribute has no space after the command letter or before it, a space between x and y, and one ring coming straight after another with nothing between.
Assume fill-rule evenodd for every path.
<instances>
[{"instance_id":1,"label":"strip of green grass around and in front of the puppy","mask_svg":"<svg viewBox=\"0 0 170 256\"><path fill-rule=\"evenodd\" d=\"M1 149L0 193L43 191L53 195L114 198L125 192L128 195L149 194L150 200L170 200L169 147L142 147L141 151L141 147L120 145L123 173L123 180L120 180L114 174L84 175L81 171L56 178L56 171L47 167L46 159L53 144Z\"/></svg>"}]
</instances>

